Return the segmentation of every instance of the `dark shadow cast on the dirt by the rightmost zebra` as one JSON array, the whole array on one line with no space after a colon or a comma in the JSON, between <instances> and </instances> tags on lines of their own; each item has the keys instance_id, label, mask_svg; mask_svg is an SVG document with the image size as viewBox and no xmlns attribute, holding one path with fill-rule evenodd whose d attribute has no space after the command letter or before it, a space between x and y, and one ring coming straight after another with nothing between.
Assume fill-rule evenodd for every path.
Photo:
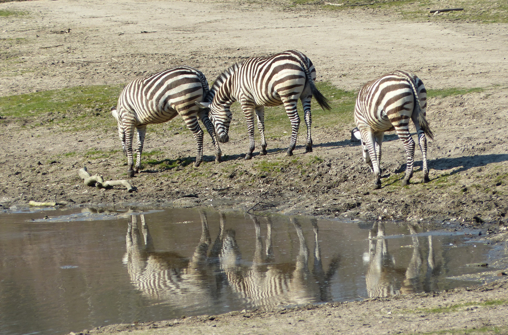
<instances>
[{"instance_id":1,"label":"dark shadow cast on the dirt by the rightmost zebra","mask_svg":"<svg viewBox=\"0 0 508 335\"><path fill-rule=\"evenodd\" d=\"M446 158L436 158L428 160L428 165L430 169L434 170L450 170L453 168L459 168L450 173L450 175L457 174L462 171L467 171L472 168L480 168L481 166L485 166L489 163L500 163L508 161L508 154L488 154L488 155L471 155L471 156L462 156L462 157L446 157ZM415 161L415 166L421 166L422 161ZM399 169L395 171L395 173L402 173L405 171L406 164L402 164Z\"/></svg>"}]
</instances>

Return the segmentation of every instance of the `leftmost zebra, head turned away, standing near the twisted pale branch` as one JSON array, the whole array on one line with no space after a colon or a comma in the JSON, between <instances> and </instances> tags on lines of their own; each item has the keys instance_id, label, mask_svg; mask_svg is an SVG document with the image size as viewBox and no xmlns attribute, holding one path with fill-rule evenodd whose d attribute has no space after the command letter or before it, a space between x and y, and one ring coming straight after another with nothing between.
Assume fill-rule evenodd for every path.
<instances>
[{"instance_id":1,"label":"leftmost zebra, head turned away, standing near the twisted pale branch","mask_svg":"<svg viewBox=\"0 0 508 335\"><path fill-rule=\"evenodd\" d=\"M198 145L196 166L203 161L203 130L198 116L205 125L215 147L215 161L220 162L220 148L215 140L215 130L207 111L196 106L209 93L205 76L190 66L176 66L151 76L138 78L125 86L118 106L111 108L111 114L118 122L118 135L123 152L129 161L127 175L133 177L141 165L141 153L145 140L146 125L163 123L180 115L187 128L193 133ZM138 132L136 166L133 170L132 142L134 128Z\"/></svg>"}]
</instances>

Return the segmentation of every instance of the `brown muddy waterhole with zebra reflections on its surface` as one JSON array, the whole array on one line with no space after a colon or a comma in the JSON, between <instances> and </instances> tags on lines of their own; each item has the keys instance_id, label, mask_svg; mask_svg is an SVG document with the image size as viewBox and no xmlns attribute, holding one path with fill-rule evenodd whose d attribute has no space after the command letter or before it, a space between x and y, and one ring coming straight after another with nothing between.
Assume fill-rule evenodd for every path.
<instances>
[{"instance_id":1,"label":"brown muddy waterhole with zebra reflections on its surface","mask_svg":"<svg viewBox=\"0 0 508 335\"><path fill-rule=\"evenodd\" d=\"M46 218L45 218L46 217ZM0 334L435 291L489 247L394 223L166 209L0 214Z\"/></svg>"}]
</instances>

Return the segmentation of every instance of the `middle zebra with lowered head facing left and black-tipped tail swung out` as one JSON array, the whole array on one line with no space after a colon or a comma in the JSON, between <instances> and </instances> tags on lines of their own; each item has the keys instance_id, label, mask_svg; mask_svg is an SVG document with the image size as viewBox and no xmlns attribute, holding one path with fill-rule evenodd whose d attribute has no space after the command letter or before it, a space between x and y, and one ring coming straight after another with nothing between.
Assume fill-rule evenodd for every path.
<instances>
[{"instance_id":1,"label":"middle zebra with lowered head facing left and black-tipped tail swung out","mask_svg":"<svg viewBox=\"0 0 508 335\"><path fill-rule=\"evenodd\" d=\"M300 116L297 111L298 99L302 102L305 124L307 125L307 146L305 152L312 151L310 125L310 99L315 97L317 103L330 110L329 101L314 85L316 78L314 65L307 56L296 50L288 50L268 57L249 58L234 63L221 73L210 89L207 102L196 102L203 108L210 109L210 117L215 125L219 142L229 141L229 126L232 115L231 105L239 101L247 120L249 151L245 159L252 158L255 148L254 118L258 119L258 130L261 134L260 155L266 155L265 140L265 106L283 104L291 120L291 143L286 156L292 156L296 146Z\"/></svg>"}]
</instances>

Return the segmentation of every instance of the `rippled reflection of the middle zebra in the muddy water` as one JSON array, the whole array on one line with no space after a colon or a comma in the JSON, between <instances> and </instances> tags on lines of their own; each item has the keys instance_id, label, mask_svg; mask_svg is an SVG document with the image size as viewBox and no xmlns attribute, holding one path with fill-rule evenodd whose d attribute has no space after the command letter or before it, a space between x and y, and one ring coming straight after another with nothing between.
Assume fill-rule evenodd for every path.
<instances>
[{"instance_id":1,"label":"rippled reflection of the middle zebra in the muddy water","mask_svg":"<svg viewBox=\"0 0 508 335\"><path fill-rule=\"evenodd\" d=\"M331 301L330 279L338 267L338 257L334 257L327 273L323 270L321 249L317 238L318 227L312 221L314 231L314 262L309 270L309 249L303 236L302 226L296 218L291 218L295 227L299 252L296 263L275 263L272 246L272 222L267 219L266 248L263 250L261 224L252 216L256 229L256 249L252 265L242 265L235 231L227 230L223 248L220 252L220 266L224 271L230 290L245 301L249 307L268 307Z\"/></svg>"}]
</instances>

